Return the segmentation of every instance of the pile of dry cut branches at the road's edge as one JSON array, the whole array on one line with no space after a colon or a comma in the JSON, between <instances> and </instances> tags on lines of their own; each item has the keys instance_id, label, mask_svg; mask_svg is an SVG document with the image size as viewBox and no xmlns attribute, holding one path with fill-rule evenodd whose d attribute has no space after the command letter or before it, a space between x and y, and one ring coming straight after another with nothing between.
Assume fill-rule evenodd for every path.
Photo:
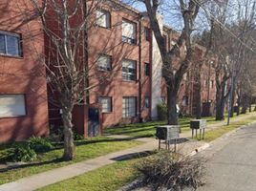
<instances>
[{"instance_id":1,"label":"pile of dry cut branches at the road's edge","mask_svg":"<svg viewBox=\"0 0 256 191\"><path fill-rule=\"evenodd\" d=\"M137 169L142 174L142 185L153 189L182 190L184 187L198 188L203 184L202 159L182 157L179 154L161 151L143 159Z\"/></svg>"}]
</instances>

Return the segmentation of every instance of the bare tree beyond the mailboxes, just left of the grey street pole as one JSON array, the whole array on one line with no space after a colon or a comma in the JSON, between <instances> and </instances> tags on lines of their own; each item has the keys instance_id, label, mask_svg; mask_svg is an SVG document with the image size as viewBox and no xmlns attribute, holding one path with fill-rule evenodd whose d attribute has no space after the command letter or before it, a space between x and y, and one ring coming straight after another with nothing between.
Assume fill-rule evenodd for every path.
<instances>
[{"instance_id":1,"label":"bare tree beyond the mailboxes, just left of the grey street pole","mask_svg":"<svg viewBox=\"0 0 256 191\"><path fill-rule=\"evenodd\" d=\"M201 44L206 48L205 59L212 60L215 70L216 84L216 120L224 119L224 106L230 92L227 82L231 77L229 49L230 35L225 31L228 18L229 1L222 4L213 2L204 11L208 20L209 30L202 34Z\"/></svg>"}]
</instances>

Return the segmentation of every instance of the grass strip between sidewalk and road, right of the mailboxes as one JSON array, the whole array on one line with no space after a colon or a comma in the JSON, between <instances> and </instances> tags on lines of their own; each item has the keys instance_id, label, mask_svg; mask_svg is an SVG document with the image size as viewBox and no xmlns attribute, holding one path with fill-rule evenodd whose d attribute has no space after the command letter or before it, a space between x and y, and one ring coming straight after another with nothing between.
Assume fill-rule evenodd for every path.
<instances>
[{"instance_id":1,"label":"grass strip between sidewalk and road, right of the mailboxes","mask_svg":"<svg viewBox=\"0 0 256 191\"><path fill-rule=\"evenodd\" d=\"M204 141L206 142L210 142L216 138L220 138L222 137L224 134L232 131L232 130L235 130L247 123L250 123L250 122L253 122L256 120L256 117L249 117L247 119L244 119L242 121L238 121L238 122L231 122L230 125L224 125L220 128L216 128L216 129L213 129L211 131L207 131L205 132L205 137L204 137Z\"/></svg>"}]
</instances>

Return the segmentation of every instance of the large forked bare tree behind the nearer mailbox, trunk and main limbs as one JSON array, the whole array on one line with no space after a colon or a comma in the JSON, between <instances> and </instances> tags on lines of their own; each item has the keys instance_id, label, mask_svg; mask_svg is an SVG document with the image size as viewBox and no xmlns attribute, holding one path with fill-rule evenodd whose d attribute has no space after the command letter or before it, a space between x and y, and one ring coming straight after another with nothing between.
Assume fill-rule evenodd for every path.
<instances>
[{"instance_id":1,"label":"large forked bare tree behind the nearer mailbox, trunk and main limbs","mask_svg":"<svg viewBox=\"0 0 256 191\"><path fill-rule=\"evenodd\" d=\"M143 0L147 10L152 31L159 45L162 59L162 74L167 85L167 106L168 106L168 124L177 125L177 96L181 86L183 74L187 72L193 57L193 47L191 44L191 33L194 22L200 10L200 4L190 0L187 2L180 0L180 11L183 20L183 29L176 46L167 52L164 46L164 36L161 33L160 23L158 20L158 11L160 9L160 0ZM184 52L184 46L186 52ZM184 56L181 56L184 54ZM180 58L179 69L174 73L174 59Z\"/></svg>"}]
</instances>

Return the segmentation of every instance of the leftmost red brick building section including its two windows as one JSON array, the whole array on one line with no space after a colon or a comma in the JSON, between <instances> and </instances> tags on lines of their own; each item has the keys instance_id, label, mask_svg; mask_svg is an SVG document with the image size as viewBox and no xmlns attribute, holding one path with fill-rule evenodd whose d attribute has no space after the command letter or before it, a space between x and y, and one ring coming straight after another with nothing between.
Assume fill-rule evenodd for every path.
<instances>
[{"instance_id":1,"label":"leftmost red brick building section including its two windows","mask_svg":"<svg viewBox=\"0 0 256 191\"><path fill-rule=\"evenodd\" d=\"M0 142L49 132L46 78L38 60L43 31L21 16L21 10L32 10L24 2L0 3Z\"/></svg>"}]
</instances>

